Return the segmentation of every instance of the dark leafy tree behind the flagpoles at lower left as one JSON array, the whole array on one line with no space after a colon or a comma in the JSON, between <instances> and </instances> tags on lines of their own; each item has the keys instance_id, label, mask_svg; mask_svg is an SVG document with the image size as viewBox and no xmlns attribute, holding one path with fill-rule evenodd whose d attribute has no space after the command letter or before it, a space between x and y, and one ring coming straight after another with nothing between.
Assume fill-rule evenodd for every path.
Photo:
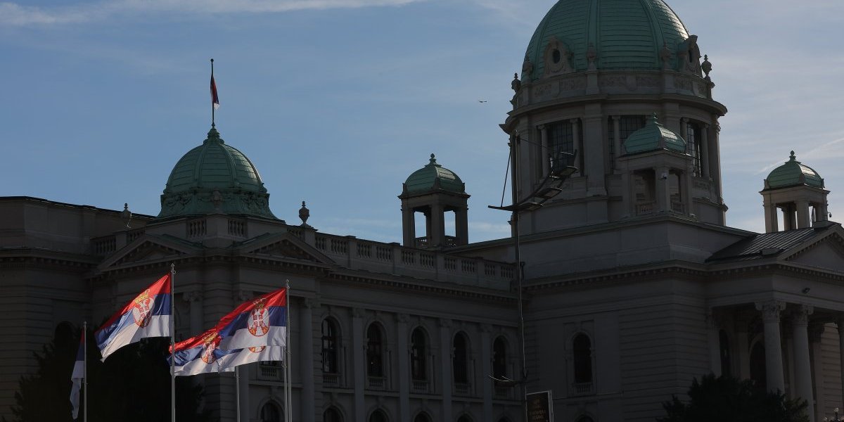
<instances>
[{"instance_id":1,"label":"dark leafy tree behind the flagpoles at lower left","mask_svg":"<svg viewBox=\"0 0 844 422\"><path fill-rule=\"evenodd\" d=\"M22 376L15 392L13 419L3 422L72 422L70 415L70 373L76 359L81 330L69 324L57 327L52 341L41 353L34 353L38 370ZM166 357L168 338L144 338L100 361L94 334L88 333L88 420L106 422L169 422L170 367ZM197 411L202 387L191 379L176 377L176 419L203 422L207 413ZM82 406L83 398L79 398ZM80 409L78 420L83 420Z\"/></svg>"}]
</instances>

